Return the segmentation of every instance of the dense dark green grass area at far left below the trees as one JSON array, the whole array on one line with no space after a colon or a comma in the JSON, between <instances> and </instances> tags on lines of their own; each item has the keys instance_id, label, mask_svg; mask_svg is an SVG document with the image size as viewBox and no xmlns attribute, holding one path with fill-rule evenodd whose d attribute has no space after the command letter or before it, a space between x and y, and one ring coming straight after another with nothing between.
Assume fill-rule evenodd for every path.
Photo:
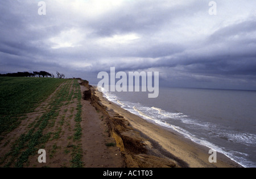
<instances>
[{"instance_id":1,"label":"dense dark green grass area at far left below the trees","mask_svg":"<svg viewBox=\"0 0 256 179\"><path fill-rule=\"evenodd\" d=\"M0 77L0 134L10 132L65 80Z\"/></svg>"}]
</instances>

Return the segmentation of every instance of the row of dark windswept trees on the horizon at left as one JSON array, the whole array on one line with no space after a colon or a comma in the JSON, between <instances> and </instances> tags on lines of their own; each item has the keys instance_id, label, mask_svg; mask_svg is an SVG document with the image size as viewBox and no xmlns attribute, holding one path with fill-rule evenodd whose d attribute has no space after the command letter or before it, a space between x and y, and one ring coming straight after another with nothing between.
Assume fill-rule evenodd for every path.
<instances>
[{"instance_id":1,"label":"row of dark windswept trees on the horizon at left","mask_svg":"<svg viewBox=\"0 0 256 179\"><path fill-rule=\"evenodd\" d=\"M56 72L56 76L53 73L48 73L46 71L40 72L17 72L17 73L6 73L0 74L0 77L51 77L51 78L65 78L65 74Z\"/></svg>"}]
</instances>

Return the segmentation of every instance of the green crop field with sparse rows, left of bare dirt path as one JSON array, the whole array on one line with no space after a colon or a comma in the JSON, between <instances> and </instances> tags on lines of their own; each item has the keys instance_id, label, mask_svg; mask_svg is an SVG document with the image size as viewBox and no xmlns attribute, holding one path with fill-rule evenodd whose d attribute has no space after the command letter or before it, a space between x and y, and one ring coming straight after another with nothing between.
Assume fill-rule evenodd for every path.
<instances>
[{"instance_id":1,"label":"green crop field with sparse rows, left of bare dirt path","mask_svg":"<svg viewBox=\"0 0 256 179\"><path fill-rule=\"evenodd\" d=\"M41 148L52 166L82 167L78 81L1 77L0 84L0 167L42 167Z\"/></svg>"}]
</instances>

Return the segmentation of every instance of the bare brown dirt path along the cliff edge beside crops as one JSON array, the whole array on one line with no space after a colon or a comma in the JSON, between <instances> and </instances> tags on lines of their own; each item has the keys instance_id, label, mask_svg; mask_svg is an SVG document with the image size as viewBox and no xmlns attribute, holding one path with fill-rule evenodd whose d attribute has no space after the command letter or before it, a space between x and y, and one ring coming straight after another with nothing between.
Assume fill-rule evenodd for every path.
<instances>
[{"instance_id":1,"label":"bare brown dirt path along the cliff edge beside crops","mask_svg":"<svg viewBox=\"0 0 256 179\"><path fill-rule=\"evenodd\" d=\"M86 90L81 86L81 91ZM82 149L85 151L83 161L85 167L122 167L123 159L117 147L108 147L114 139L108 136L104 116L90 105L90 101L82 100Z\"/></svg>"}]
</instances>

